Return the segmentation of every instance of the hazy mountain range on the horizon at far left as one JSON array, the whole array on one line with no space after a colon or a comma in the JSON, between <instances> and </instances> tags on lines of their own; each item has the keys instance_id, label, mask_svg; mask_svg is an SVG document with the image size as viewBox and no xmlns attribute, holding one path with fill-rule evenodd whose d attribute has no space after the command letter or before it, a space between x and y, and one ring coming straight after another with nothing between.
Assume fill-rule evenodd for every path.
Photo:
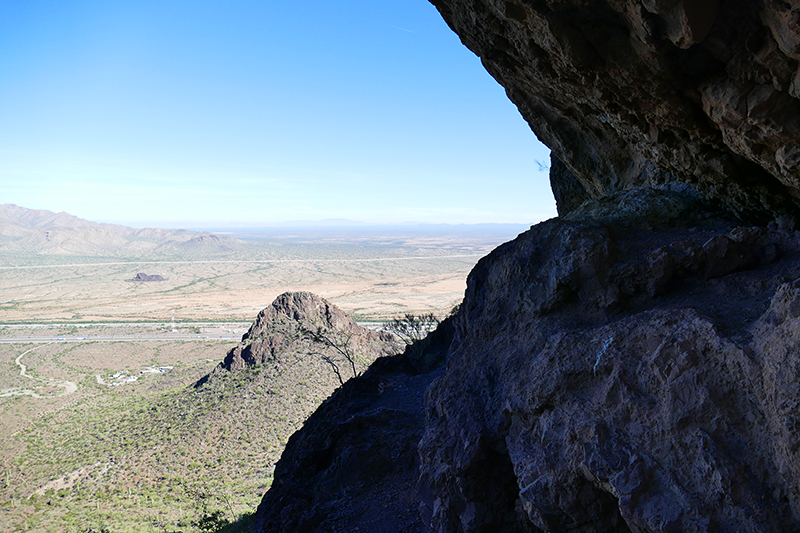
<instances>
[{"instance_id":1,"label":"hazy mountain range on the horizon at far left","mask_svg":"<svg viewBox=\"0 0 800 533\"><path fill-rule=\"evenodd\" d=\"M228 252L240 244L238 239L209 232L135 229L63 212L0 205L0 252L141 257Z\"/></svg>"}]
</instances>

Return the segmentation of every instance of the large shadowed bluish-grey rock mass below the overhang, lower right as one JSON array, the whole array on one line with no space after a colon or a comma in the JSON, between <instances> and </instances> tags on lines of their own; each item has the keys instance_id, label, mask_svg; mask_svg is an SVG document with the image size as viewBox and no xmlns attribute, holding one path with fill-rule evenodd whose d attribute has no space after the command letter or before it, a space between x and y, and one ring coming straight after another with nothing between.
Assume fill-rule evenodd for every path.
<instances>
[{"instance_id":1,"label":"large shadowed bluish-grey rock mass below the overhang, lower right","mask_svg":"<svg viewBox=\"0 0 800 533\"><path fill-rule=\"evenodd\" d=\"M632 190L482 259L428 391L432 529L800 530L798 258Z\"/></svg>"}]
</instances>

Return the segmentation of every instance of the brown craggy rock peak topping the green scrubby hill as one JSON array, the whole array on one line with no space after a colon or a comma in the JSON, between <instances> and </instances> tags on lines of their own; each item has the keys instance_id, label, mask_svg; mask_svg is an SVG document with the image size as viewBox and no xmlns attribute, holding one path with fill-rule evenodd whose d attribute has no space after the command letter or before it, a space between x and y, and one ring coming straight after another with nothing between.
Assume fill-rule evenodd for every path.
<instances>
[{"instance_id":1,"label":"brown craggy rock peak topping the green scrubby hill","mask_svg":"<svg viewBox=\"0 0 800 533\"><path fill-rule=\"evenodd\" d=\"M352 377L347 362L340 354L302 338L299 327L310 330L321 327L333 333L331 338L350 346L356 359L356 370L363 372L383 355L398 353L400 344L391 335L371 331L356 324L350 315L310 292L286 292L262 310L242 341L220 363L217 372L236 372L245 367L264 364L281 354L297 355L319 352L329 355L340 366L343 377Z\"/></svg>"}]
</instances>

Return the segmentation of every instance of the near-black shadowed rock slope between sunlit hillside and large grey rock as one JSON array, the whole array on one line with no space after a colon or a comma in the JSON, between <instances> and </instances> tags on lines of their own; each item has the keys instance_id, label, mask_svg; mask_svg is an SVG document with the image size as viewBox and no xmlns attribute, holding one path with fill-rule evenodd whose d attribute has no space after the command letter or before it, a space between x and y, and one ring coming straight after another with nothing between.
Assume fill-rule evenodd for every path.
<instances>
[{"instance_id":1,"label":"near-black shadowed rock slope between sunlit hillside and large grey rock","mask_svg":"<svg viewBox=\"0 0 800 533\"><path fill-rule=\"evenodd\" d=\"M433 374L382 358L292 435L253 523L258 533L417 533L417 443Z\"/></svg>"}]
</instances>

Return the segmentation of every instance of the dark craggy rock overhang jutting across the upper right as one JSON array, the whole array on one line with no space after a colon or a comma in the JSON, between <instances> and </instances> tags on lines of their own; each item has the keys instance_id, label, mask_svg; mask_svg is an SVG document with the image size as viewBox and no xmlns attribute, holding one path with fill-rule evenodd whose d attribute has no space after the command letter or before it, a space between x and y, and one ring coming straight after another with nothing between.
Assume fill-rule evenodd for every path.
<instances>
[{"instance_id":1,"label":"dark craggy rock overhang jutting across the upper right","mask_svg":"<svg viewBox=\"0 0 800 533\"><path fill-rule=\"evenodd\" d=\"M754 221L797 213L795 2L431 2L552 149L561 214L642 185Z\"/></svg>"}]
</instances>

